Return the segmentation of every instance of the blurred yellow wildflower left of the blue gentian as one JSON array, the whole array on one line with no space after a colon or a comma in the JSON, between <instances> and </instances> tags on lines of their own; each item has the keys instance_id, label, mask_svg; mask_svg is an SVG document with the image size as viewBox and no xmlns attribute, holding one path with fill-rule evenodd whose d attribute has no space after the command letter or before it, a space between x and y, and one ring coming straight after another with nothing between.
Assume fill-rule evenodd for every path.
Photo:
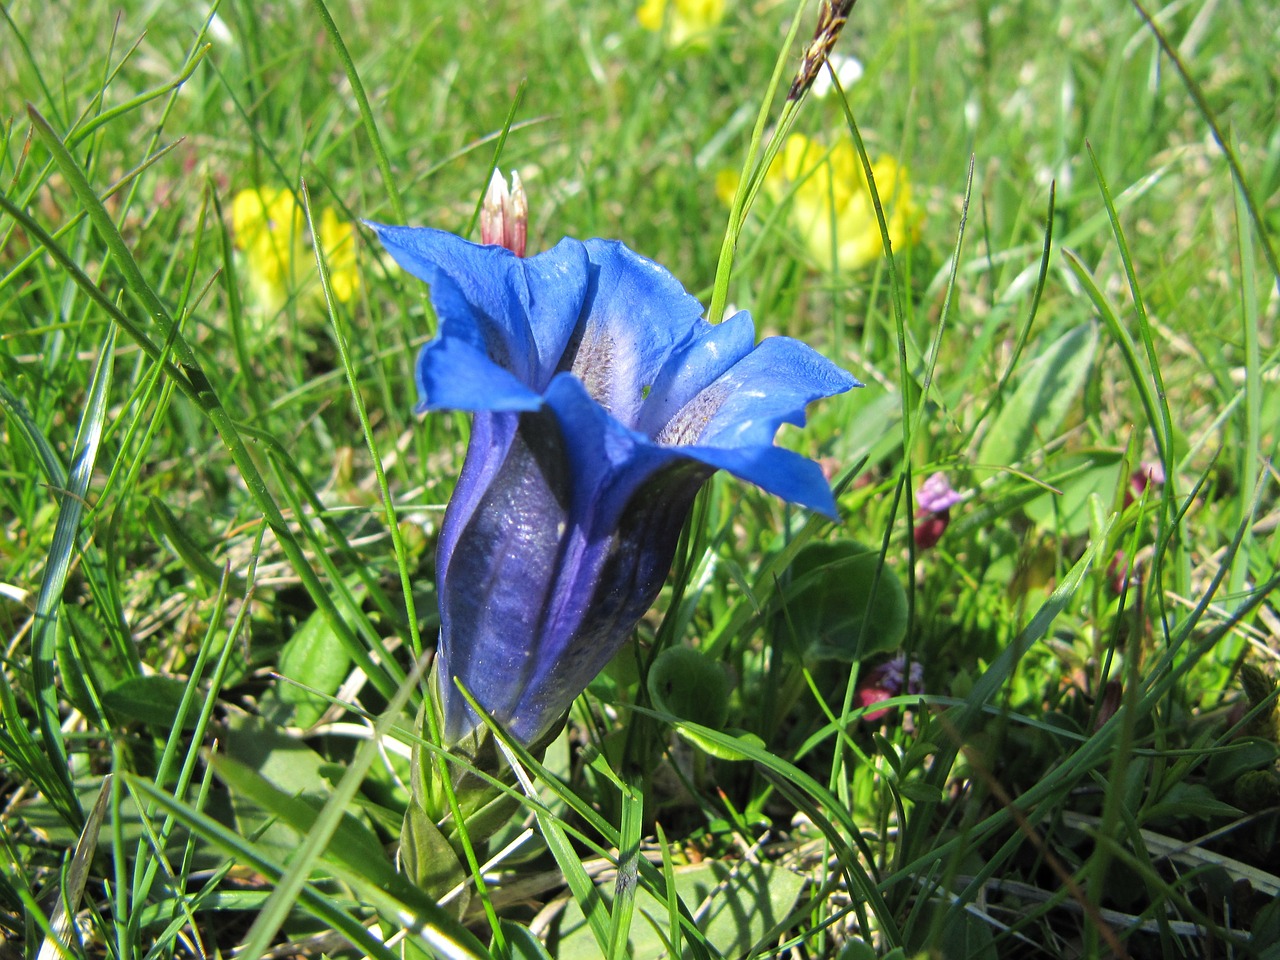
<instances>
[{"instance_id":1,"label":"blurred yellow wildflower left of the blue gentian","mask_svg":"<svg viewBox=\"0 0 1280 960\"><path fill-rule=\"evenodd\" d=\"M255 302L269 314L280 310L315 273L315 260L306 244L303 211L293 192L241 191L232 201L232 228L236 248L244 255L244 274ZM349 301L360 288L355 224L343 223L333 210L324 210L320 247L329 264L334 296Z\"/></svg>"}]
</instances>

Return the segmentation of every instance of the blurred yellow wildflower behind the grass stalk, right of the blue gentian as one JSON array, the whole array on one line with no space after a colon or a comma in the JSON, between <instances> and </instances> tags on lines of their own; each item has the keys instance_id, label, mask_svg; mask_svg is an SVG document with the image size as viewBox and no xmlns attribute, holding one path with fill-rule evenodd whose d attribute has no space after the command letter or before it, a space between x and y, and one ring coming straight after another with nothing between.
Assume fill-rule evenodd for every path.
<instances>
[{"instance_id":1,"label":"blurred yellow wildflower behind the grass stalk, right of the blue gentian","mask_svg":"<svg viewBox=\"0 0 1280 960\"><path fill-rule=\"evenodd\" d=\"M876 191L884 207L888 237L901 250L919 228L919 210L911 204L906 168L891 156L872 161ZM737 179L717 177L716 192L733 197ZM801 133L792 133L764 175L764 188L776 202L790 207L792 229L804 239L822 266L858 270L884 255L879 223L861 160L851 140L842 138L831 150ZM835 229L835 237L832 230Z\"/></svg>"}]
</instances>

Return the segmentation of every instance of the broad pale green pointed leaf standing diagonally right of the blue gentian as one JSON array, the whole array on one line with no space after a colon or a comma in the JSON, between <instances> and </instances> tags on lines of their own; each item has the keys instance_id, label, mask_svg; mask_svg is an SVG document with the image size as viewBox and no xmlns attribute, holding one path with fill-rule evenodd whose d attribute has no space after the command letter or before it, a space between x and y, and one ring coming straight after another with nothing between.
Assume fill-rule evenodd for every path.
<instances>
[{"instance_id":1,"label":"broad pale green pointed leaf standing diagonally right of the blue gentian","mask_svg":"<svg viewBox=\"0 0 1280 960\"><path fill-rule=\"evenodd\" d=\"M978 462L989 466L1020 463L1053 439L1084 390L1097 346L1097 326L1082 324L1030 361L983 438Z\"/></svg>"}]
</instances>

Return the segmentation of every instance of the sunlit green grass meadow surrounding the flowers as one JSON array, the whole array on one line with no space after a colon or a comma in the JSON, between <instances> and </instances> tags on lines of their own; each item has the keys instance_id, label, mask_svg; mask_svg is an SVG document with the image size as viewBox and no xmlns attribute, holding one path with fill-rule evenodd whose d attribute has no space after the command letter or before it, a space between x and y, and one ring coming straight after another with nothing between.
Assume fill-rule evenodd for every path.
<instances>
[{"instance_id":1,"label":"sunlit green grass meadow surrounding the flowers","mask_svg":"<svg viewBox=\"0 0 1280 960\"><path fill-rule=\"evenodd\" d=\"M3 12L4 950L1277 956L1272 5L863 0L865 76L794 129L905 164L918 237L832 274L762 193L718 288L792 3L687 51L568 0ZM502 828L419 823L415 884L466 419L413 417L434 317L367 233L352 300L308 253L264 308L232 210L465 232L495 155L532 250L623 239L868 387L783 434L841 524L717 479ZM673 645L723 730L655 709ZM899 649L924 692L867 722Z\"/></svg>"}]
</instances>

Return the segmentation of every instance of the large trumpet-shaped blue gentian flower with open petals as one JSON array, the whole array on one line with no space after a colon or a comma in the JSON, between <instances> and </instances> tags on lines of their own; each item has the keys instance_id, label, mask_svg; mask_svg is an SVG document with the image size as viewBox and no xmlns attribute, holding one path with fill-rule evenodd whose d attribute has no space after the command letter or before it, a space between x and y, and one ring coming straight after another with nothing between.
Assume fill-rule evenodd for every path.
<instances>
[{"instance_id":1,"label":"large trumpet-shaped blue gentian flower with open petals","mask_svg":"<svg viewBox=\"0 0 1280 960\"><path fill-rule=\"evenodd\" d=\"M644 616L694 497L717 470L835 517L822 470L773 445L856 380L803 343L755 343L616 241L529 259L434 229L370 224L430 284L439 335L420 412L472 413L438 548L438 696L449 744L479 718L452 677L532 744Z\"/></svg>"}]
</instances>

